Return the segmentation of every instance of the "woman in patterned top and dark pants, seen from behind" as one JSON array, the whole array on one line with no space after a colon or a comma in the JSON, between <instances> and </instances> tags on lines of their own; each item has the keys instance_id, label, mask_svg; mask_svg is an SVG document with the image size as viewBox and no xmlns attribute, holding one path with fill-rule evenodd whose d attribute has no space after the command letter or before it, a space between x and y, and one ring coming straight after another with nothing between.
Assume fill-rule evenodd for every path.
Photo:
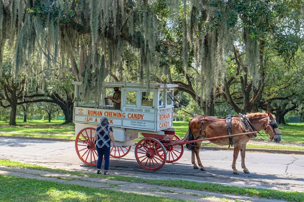
<instances>
[{"instance_id":1,"label":"woman in patterned top and dark pants, seen from behind","mask_svg":"<svg viewBox=\"0 0 304 202\"><path fill-rule=\"evenodd\" d=\"M98 154L97 160L97 174L101 174L102 158L104 157L104 175L109 175L109 163L110 163L110 148L111 143L115 146L115 139L113 136L113 129L109 126L109 121L106 117L101 117L100 125L97 126L95 131L94 140L96 141L96 150Z\"/></svg>"}]
</instances>

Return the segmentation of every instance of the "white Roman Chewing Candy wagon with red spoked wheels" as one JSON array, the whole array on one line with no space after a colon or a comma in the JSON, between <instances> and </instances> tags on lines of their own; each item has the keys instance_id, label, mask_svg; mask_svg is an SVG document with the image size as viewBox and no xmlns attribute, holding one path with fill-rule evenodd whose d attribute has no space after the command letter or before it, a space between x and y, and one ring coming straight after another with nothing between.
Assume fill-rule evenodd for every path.
<instances>
[{"instance_id":1,"label":"white Roman Chewing Candy wagon with red spoked wheels","mask_svg":"<svg viewBox=\"0 0 304 202\"><path fill-rule=\"evenodd\" d=\"M98 98L83 102L82 82L75 85L73 123L75 124L75 148L79 158L87 165L96 165L97 152L94 134L102 116L107 117L113 128L116 147L111 148L111 157L126 156L140 133L144 138L135 146L135 158L146 170L158 170L165 162L175 162L183 154L183 145L172 145L177 139L173 124L173 92L177 85L150 84L147 90L139 83L104 83ZM120 87L121 109L113 109L107 96L113 87Z\"/></svg>"}]
</instances>

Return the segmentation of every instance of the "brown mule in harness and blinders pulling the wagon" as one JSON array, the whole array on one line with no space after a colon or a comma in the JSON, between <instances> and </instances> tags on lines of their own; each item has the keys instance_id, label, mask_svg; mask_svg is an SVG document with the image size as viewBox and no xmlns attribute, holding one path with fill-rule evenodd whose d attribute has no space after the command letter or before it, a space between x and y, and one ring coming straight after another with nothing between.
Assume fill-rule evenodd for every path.
<instances>
[{"instance_id":1,"label":"brown mule in harness and blinders pulling the wagon","mask_svg":"<svg viewBox=\"0 0 304 202\"><path fill-rule=\"evenodd\" d=\"M249 120L247 125L244 121L243 117L231 117L231 134L239 134L250 131L257 131L264 129L265 133L270 134L270 139L273 140L275 138L276 142L280 142L282 138L282 134L278 128L278 124L276 122L276 118L269 111L268 113L250 113L247 114L246 119ZM251 124L251 125L250 125ZM227 130L227 122L226 118L219 117L209 117L209 116L198 116L192 119L189 122L189 129L187 134L185 135L185 139L204 139L211 137L219 137L229 135ZM245 166L245 153L246 153L246 144L251 139L252 135L238 135L225 138L219 138L210 140L210 142L218 144L218 145L233 145L234 146L234 154L233 154L233 162L232 169L234 174L239 174L236 169L236 161L241 150L241 166L243 168L244 173L250 173L249 170ZM201 169L202 171L206 171L204 166L200 160L200 147L202 141L196 142L193 145L194 149L192 150L192 164L195 169ZM187 145L188 147L189 145ZM189 148L189 147L188 147ZM195 157L198 160L198 166L195 163Z\"/></svg>"}]
</instances>

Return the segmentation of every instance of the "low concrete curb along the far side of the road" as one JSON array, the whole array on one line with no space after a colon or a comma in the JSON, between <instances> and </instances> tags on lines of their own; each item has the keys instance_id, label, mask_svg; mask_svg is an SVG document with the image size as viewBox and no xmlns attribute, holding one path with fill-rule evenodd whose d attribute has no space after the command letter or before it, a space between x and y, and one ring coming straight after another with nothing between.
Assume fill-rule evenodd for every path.
<instances>
[{"instance_id":1,"label":"low concrete curb along the far side of the road","mask_svg":"<svg viewBox=\"0 0 304 202\"><path fill-rule=\"evenodd\" d=\"M48 138L48 137L23 137L23 136L5 136L1 135L4 138L12 139L34 139L34 140L50 140L50 141L63 141L63 142L74 142L74 139L63 139L63 138ZM135 145L134 145L135 146ZM184 149L187 147L184 145ZM234 148L220 147L220 146L201 146L201 150L231 150ZM286 154L286 155L304 155L304 150L289 150L289 149L269 149L269 148L246 148L246 151L256 151L261 153L270 153L270 154Z\"/></svg>"}]
</instances>

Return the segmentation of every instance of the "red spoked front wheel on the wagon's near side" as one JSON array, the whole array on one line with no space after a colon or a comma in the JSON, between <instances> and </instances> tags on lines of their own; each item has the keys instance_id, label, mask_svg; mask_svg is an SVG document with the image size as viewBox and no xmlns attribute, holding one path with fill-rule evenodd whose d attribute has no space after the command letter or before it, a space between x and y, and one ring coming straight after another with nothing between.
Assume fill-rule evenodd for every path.
<instances>
[{"instance_id":1,"label":"red spoked front wheel on the wagon's near side","mask_svg":"<svg viewBox=\"0 0 304 202\"><path fill-rule=\"evenodd\" d=\"M165 164L166 149L159 140L144 138L136 144L135 158L142 168L155 171Z\"/></svg>"}]
</instances>

